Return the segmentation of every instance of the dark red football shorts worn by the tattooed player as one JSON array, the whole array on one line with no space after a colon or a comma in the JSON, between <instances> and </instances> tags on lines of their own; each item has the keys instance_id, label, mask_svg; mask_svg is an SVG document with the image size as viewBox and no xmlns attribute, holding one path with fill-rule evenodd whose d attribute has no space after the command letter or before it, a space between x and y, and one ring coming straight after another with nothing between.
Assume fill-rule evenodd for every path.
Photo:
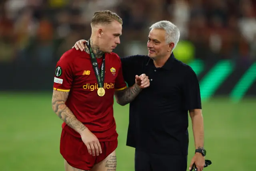
<instances>
[{"instance_id":1,"label":"dark red football shorts worn by the tattooed player","mask_svg":"<svg viewBox=\"0 0 256 171\"><path fill-rule=\"evenodd\" d=\"M92 167L106 159L117 147L118 140L100 142L102 153L92 156L81 138L74 137L62 130L60 137L60 153L72 167L82 170L91 170Z\"/></svg>"}]
</instances>

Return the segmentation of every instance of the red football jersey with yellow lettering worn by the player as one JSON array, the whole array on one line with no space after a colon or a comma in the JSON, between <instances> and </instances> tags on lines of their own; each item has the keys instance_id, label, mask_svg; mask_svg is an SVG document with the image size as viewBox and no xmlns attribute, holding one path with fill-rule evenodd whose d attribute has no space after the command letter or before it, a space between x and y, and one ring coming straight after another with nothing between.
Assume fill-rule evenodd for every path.
<instances>
[{"instance_id":1,"label":"red football jersey with yellow lettering worn by the player","mask_svg":"<svg viewBox=\"0 0 256 171\"><path fill-rule=\"evenodd\" d=\"M103 59L97 59L98 67ZM114 91L123 90L126 83L122 75L120 57L116 53L105 54L105 95L97 94L98 83L90 55L85 51L71 49L64 53L56 65L54 90L69 91L66 105L99 141L112 141L118 137L114 120ZM80 137L66 123L62 128Z\"/></svg>"}]
</instances>

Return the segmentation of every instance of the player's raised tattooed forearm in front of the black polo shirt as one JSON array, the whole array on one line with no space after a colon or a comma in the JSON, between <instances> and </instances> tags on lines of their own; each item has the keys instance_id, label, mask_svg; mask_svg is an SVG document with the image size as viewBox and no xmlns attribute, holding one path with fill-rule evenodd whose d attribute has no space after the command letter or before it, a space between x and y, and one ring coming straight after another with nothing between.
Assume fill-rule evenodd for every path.
<instances>
[{"instance_id":1,"label":"player's raised tattooed forearm in front of the black polo shirt","mask_svg":"<svg viewBox=\"0 0 256 171\"><path fill-rule=\"evenodd\" d=\"M134 84L124 90L115 91L116 102L122 106L130 103L140 93L142 89Z\"/></svg>"}]
</instances>

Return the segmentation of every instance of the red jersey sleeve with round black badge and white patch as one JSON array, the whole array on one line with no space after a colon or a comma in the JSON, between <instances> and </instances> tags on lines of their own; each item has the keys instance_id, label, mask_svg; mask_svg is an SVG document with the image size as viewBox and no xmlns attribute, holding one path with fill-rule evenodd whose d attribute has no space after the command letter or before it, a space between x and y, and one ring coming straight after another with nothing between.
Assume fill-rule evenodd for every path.
<instances>
[{"instance_id":1,"label":"red jersey sleeve with round black badge and white patch","mask_svg":"<svg viewBox=\"0 0 256 171\"><path fill-rule=\"evenodd\" d=\"M58 91L70 91L73 81L72 63L70 63L71 57L62 55L60 60L56 64L54 73L54 90Z\"/></svg>"}]
</instances>

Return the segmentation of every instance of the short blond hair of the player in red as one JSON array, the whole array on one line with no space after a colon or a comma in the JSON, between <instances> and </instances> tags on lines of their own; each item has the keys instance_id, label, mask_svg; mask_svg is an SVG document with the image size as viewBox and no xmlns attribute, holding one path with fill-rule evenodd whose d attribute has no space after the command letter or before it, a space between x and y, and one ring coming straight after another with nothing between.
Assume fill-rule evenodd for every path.
<instances>
[{"instance_id":1,"label":"short blond hair of the player in red","mask_svg":"<svg viewBox=\"0 0 256 171\"><path fill-rule=\"evenodd\" d=\"M120 18L116 13L109 10L97 11L92 17L91 25L95 26L96 24L111 24L111 22L114 20L120 24L123 24L122 18Z\"/></svg>"}]
</instances>

